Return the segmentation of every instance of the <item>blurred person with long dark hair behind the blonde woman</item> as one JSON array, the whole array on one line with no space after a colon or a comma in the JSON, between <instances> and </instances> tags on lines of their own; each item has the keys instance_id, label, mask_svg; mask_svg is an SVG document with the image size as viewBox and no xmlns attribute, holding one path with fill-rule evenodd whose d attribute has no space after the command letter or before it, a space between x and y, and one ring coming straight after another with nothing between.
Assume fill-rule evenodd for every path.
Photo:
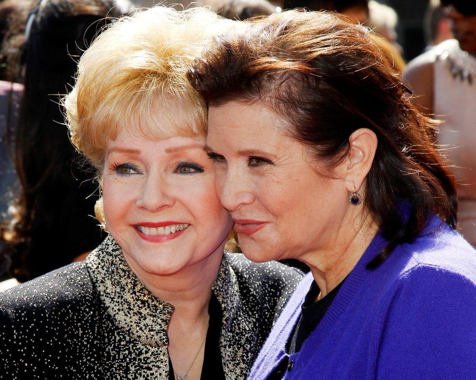
<instances>
[{"instance_id":1,"label":"blurred person with long dark hair behind the blonde woman","mask_svg":"<svg viewBox=\"0 0 476 380\"><path fill-rule=\"evenodd\" d=\"M20 190L1 231L9 272L20 282L83 259L103 239L92 217L98 184L71 145L59 94L73 84L76 61L101 28L132 9L127 0L42 0L26 20L19 13L26 24L21 49L18 33L5 41L15 44L9 71L24 83L10 139ZM22 30L20 23L12 28Z\"/></svg>"}]
</instances>

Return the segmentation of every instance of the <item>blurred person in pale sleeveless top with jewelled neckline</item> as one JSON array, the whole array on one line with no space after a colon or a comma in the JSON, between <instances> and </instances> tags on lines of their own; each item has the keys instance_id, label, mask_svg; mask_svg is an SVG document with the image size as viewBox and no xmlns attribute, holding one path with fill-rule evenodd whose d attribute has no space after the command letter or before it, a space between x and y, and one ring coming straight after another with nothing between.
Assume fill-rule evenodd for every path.
<instances>
[{"instance_id":1,"label":"blurred person in pale sleeveless top with jewelled neckline","mask_svg":"<svg viewBox=\"0 0 476 380\"><path fill-rule=\"evenodd\" d=\"M457 183L458 220L476 245L476 1L443 0L454 40L412 60L404 79L414 104L443 120L434 136L443 145Z\"/></svg>"}]
</instances>

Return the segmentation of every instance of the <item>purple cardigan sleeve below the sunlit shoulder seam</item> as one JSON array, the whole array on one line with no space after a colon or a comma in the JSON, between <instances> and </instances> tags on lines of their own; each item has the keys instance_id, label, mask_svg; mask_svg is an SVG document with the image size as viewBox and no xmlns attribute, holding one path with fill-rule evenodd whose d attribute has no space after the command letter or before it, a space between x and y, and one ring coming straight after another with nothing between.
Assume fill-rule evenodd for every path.
<instances>
[{"instance_id":1,"label":"purple cardigan sleeve below the sunlit shoulder seam","mask_svg":"<svg viewBox=\"0 0 476 380\"><path fill-rule=\"evenodd\" d=\"M453 378L459 373L471 378L476 373L475 277L417 264L397 285L379 342L378 377Z\"/></svg>"}]
</instances>

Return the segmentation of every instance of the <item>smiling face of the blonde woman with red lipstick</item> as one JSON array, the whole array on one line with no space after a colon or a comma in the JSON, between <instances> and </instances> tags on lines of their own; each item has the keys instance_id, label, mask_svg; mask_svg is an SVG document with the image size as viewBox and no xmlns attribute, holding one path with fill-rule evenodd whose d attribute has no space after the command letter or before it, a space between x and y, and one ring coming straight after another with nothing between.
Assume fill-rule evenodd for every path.
<instances>
[{"instance_id":1,"label":"smiling face of the blonde woman with red lipstick","mask_svg":"<svg viewBox=\"0 0 476 380\"><path fill-rule=\"evenodd\" d=\"M156 120L160 126L166 118ZM187 137L148 140L125 129L107 142L105 222L133 269L169 275L222 255L232 221L204 144Z\"/></svg>"}]
</instances>

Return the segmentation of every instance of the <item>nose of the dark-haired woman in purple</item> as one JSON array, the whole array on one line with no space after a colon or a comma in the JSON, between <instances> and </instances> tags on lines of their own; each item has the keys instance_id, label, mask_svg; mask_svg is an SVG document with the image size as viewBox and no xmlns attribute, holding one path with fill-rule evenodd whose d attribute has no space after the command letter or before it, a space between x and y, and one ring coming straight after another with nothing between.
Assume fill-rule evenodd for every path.
<instances>
[{"instance_id":1,"label":"nose of the dark-haired woman in purple","mask_svg":"<svg viewBox=\"0 0 476 380\"><path fill-rule=\"evenodd\" d=\"M217 189L221 204L230 212L255 201L253 184L249 177L230 168L217 175Z\"/></svg>"}]
</instances>

